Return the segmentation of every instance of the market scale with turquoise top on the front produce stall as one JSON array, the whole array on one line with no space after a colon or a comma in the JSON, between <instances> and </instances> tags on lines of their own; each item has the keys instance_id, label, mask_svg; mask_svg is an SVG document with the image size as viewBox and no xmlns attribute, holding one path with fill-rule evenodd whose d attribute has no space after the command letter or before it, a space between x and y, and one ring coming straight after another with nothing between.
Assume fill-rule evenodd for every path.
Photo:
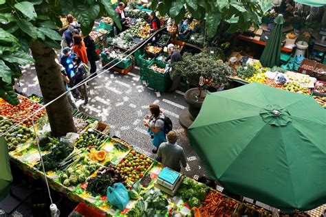
<instances>
[{"instance_id":1,"label":"market scale with turquoise top on the front produce stall","mask_svg":"<svg viewBox=\"0 0 326 217\"><path fill-rule=\"evenodd\" d=\"M182 183L182 174L169 168L163 168L154 183L154 186L170 196L175 196Z\"/></svg>"}]
</instances>

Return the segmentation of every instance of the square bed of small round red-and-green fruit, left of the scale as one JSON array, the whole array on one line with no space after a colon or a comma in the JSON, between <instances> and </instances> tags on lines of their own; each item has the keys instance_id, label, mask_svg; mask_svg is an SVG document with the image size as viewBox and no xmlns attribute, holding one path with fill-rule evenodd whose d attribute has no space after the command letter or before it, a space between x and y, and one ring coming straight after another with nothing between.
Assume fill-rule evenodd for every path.
<instances>
[{"instance_id":1,"label":"square bed of small round red-and-green fruit, left of the scale","mask_svg":"<svg viewBox=\"0 0 326 217\"><path fill-rule=\"evenodd\" d=\"M117 165L117 170L128 177L129 181L135 182L144 176L144 172L151 166L153 161L135 150L129 154Z\"/></svg>"}]
</instances>

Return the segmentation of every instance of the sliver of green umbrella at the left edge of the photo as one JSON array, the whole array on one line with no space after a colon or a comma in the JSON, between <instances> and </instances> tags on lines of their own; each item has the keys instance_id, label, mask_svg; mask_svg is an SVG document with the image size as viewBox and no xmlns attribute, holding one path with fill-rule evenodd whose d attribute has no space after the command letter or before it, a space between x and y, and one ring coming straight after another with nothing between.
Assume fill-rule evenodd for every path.
<instances>
[{"instance_id":1,"label":"sliver of green umbrella at the left edge of the photo","mask_svg":"<svg viewBox=\"0 0 326 217\"><path fill-rule=\"evenodd\" d=\"M0 201L8 195L11 181L8 146L5 138L0 137Z\"/></svg>"}]
</instances>

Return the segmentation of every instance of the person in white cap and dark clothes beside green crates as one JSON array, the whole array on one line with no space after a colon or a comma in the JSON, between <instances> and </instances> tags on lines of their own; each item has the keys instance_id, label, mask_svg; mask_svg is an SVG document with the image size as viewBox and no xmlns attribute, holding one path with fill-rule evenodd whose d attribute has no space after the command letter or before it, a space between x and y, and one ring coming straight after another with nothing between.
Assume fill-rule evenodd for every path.
<instances>
[{"instance_id":1,"label":"person in white cap and dark clothes beside green crates","mask_svg":"<svg viewBox=\"0 0 326 217\"><path fill-rule=\"evenodd\" d=\"M169 89L169 92L174 92L177 89L177 87L179 86L179 84L180 84L181 75L175 73L175 71L173 70L173 64L175 64L176 62L181 61L182 57L181 57L180 52L178 52L175 49L175 46L173 44L168 45L168 51L169 51L170 55L166 58L166 61L170 62L169 65L170 65L171 69L170 69L169 73L170 73L170 77L171 77L171 80L172 80L172 86Z\"/></svg>"}]
</instances>

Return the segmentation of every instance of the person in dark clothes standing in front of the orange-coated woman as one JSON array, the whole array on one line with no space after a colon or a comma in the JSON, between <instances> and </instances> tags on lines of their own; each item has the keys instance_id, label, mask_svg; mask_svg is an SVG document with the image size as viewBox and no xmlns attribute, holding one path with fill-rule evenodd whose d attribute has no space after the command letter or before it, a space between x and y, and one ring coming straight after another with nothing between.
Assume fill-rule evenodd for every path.
<instances>
[{"instance_id":1,"label":"person in dark clothes standing in front of the orange-coated woman","mask_svg":"<svg viewBox=\"0 0 326 217\"><path fill-rule=\"evenodd\" d=\"M84 80L84 76L86 74L86 67L85 66L85 63L83 63L82 60L80 60L80 58L78 56L75 56L74 59L74 65L75 65L75 68L74 68L74 86L76 86L77 84L79 84L80 82L83 82ZM77 95L80 96L82 98L82 100L85 100L84 101L84 105L87 104L88 102L88 95L87 95L87 88L86 88L86 84L82 84L80 85L77 89Z\"/></svg>"}]
</instances>

